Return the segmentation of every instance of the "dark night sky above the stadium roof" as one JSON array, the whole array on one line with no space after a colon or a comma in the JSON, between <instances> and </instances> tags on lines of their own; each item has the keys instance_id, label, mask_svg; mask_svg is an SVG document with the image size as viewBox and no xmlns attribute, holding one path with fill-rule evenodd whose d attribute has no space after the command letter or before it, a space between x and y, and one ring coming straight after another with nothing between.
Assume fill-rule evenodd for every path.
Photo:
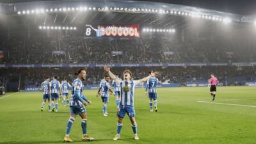
<instances>
[{"instance_id":1,"label":"dark night sky above the stadium roof","mask_svg":"<svg viewBox=\"0 0 256 144\"><path fill-rule=\"evenodd\" d=\"M36 0L0 0L0 3L19 3ZM49 0L45 0L49 1ZM54 1L54 0L52 0ZM67 1L67 0L64 0ZM134 0L134 1L155 1L163 3L183 4L196 6L221 12L230 12L240 15L256 15L256 0Z\"/></svg>"}]
</instances>

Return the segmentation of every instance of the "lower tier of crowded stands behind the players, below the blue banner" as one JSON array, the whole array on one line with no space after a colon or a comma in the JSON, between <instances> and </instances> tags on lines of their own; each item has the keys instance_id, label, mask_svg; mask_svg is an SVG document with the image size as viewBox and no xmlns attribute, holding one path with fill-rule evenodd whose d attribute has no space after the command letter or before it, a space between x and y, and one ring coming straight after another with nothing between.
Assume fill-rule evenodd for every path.
<instances>
[{"instance_id":1,"label":"lower tier of crowded stands behind the players, below the blue banner","mask_svg":"<svg viewBox=\"0 0 256 144\"><path fill-rule=\"evenodd\" d=\"M0 84L5 90L38 90L45 77L58 76L61 82L64 78L69 83L76 78L77 68L1 68ZM210 74L218 77L220 85L253 85L256 82L256 67L113 67L114 74L122 77L122 72L129 69L133 79L148 76L148 72L157 71L159 87L170 86L207 86ZM84 88L98 88L100 80L106 74L102 67L86 68L87 76ZM141 85L142 86L142 85Z\"/></svg>"}]
</instances>

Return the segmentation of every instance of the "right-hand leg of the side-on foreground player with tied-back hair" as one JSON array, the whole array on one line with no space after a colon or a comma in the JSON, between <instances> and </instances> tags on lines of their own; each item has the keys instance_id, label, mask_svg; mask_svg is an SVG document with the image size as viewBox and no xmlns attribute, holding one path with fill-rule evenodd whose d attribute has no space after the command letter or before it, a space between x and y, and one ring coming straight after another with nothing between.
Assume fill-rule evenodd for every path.
<instances>
[{"instance_id":1,"label":"right-hand leg of the side-on foreground player with tied-back hair","mask_svg":"<svg viewBox=\"0 0 256 144\"><path fill-rule=\"evenodd\" d=\"M81 108L81 113L79 114L82 118L82 122L81 122L81 127L82 127L82 131L83 131L83 136L82 139L83 140L93 140L92 137L87 135L87 113L85 108Z\"/></svg>"}]
</instances>

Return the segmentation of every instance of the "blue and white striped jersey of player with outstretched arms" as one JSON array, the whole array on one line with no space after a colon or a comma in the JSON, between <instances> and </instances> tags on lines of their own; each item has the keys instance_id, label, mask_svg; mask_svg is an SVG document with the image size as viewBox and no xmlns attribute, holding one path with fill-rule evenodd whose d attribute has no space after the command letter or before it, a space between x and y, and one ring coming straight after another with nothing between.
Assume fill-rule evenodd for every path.
<instances>
[{"instance_id":1,"label":"blue and white striped jersey of player with outstretched arms","mask_svg":"<svg viewBox=\"0 0 256 144\"><path fill-rule=\"evenodd\" d=\"M134 88L136 85L141 84L141 81L122 81L121 79L115 79L117 84L120 84L121 88L121 105L133 106L134 105Z\"/></svg>"}]
</instances>

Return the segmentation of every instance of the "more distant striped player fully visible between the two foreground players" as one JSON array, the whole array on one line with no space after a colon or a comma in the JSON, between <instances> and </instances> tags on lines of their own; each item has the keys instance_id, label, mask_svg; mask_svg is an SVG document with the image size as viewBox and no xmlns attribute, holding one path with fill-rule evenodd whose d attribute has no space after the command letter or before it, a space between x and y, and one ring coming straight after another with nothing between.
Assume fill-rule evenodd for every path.
<instances>
[{"instance_id":1,"label":"more distant striped player fully visible between the two foreground players","mask_svg":"<svg viewBox=\"0 0 256 144\"><path fill-rule=\"evenodd\" d=\"M103 102L103 106L102 106L103 116L108 116L108 112L107 112L107 105L109 102L108 91L110 92L111 95L113 94L109 81L110 81L109 76L107 75L104 76L104 79L100 81L99 91L97 93L97 97L100 95Z\"/></svg>"}]
</instances>

